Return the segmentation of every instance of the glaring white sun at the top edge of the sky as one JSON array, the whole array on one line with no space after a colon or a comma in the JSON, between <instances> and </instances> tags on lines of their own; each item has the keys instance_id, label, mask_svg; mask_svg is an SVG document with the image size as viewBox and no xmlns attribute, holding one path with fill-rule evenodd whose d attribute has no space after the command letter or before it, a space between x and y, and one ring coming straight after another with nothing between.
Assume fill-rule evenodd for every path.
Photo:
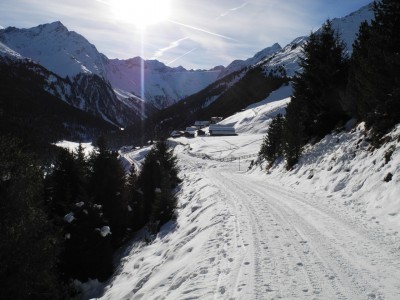
<instances>
[{"instance_id":1,"label":"glaring white sun at the top edge of the sky","mask_svg":"<svg viewBox=\"0 0 400 300\"><path fill-rule=\"evenodd\" d=\"M114 17L118 20L144 28L168 19L169 0L112 0Z\"/></svg>"}]
</instances>

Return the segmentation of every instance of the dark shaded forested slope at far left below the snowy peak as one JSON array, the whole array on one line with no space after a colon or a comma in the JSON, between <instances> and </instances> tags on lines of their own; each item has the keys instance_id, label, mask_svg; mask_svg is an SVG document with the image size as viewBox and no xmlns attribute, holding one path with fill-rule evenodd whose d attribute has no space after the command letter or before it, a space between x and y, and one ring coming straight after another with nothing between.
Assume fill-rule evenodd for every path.
<instances>
[{"instance_id":1,"label":"dark shaded forested slope at far left below the snowy peak","mask_svg":"<svg viewBox=\"0 0 400 300\"><path fill-rule=\"evenodd\" d=\"M72 95L65 79L31 61L5 63L6 59L0 57L0 135L18 137L48 161L50 143L60 139L89 141L118 130L62 99L61 93Z\"/></svg>"}]
</instances>

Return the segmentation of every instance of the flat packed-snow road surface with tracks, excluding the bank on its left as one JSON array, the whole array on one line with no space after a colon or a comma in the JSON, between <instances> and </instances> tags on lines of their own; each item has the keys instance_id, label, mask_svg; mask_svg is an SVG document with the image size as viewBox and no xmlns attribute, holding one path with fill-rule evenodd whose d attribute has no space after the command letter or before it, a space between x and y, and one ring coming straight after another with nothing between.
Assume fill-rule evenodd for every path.
<instances>
[{"instance_id":1,"label":"flat packed-snow road surface with tracks, excluding the bank on its left","mask_svg":"<svg viewBox=\"0 0 400 300\"><path fill-rule=\"evenodd\" d=\"M399 256L379 245L379 237L321 209L319 199L306 201L254 177L219 172L214 178L235 207L239 240L248 247L232 296L400 298Z\"/></svg>"}]
</instances>

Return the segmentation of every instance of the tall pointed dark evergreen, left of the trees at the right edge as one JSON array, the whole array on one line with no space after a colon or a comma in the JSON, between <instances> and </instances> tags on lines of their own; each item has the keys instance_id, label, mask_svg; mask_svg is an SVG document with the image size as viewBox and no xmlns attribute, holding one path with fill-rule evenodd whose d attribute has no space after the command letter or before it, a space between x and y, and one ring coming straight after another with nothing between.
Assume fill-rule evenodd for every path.
<instances>
[{"instance_id":1,"label":"tall pointed dark evergreen, left of the trees at the right edge","mask_svg":"<svg viewBox=\"0 0 400 300\"><path fill-rule=\"evenodd\" d=\"M347 84L348 60L331 21L326 21L319 33L311 33L302 54L292 102L304 106L301 121L306 138L322 137L345 117L340 99Z\"/></svg>"}]
</instances>

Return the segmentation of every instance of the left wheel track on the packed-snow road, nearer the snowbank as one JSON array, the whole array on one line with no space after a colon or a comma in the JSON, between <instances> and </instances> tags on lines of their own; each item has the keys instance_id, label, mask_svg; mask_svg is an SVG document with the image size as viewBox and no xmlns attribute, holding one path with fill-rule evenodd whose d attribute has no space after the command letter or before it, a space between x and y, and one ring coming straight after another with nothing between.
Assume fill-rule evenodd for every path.
<instances>
[{"instance_id":1,"label":"left wheel track on the packed-snow road, nearer the snowbank","mask_svg":"<svg viewBox=\"0 0 400 300\"><path fill-rule=\"evenodd\" d=\"M249 299L264 299L267 294L269 297L297 298L301 291L295 287L299 285L298 281L301 278L292 281L294 276L292 273L295 272L293 268L299 268L297 265L299 259L294 258L296 253L290 249L291 243L287 242L287 239L282 239L285 230L275 218L272 218L266 207L255 209L243 201L247 199L252 203L257 202L262 199L259 195L251 193L239 184L234 184L230 176L227 178L221 175L219 174L219 177L223 178L224 192L234 205L241 208L237 210L241 212L238 217L248 223L247 231L243 234L246 235L249 251L244 260L253 269L247 270L247 274L244 273L247 277L242 276L240 282L245 282L247 285L247 282L251 281L253 287L248 289L244 296ZM263 219L264 212L266 212L265 216L269 218L267 224ZM249 268L247 267L247 269ZM249 280L250 276L251 280ZM308 289L308 286L303 288L307 291ZM289 295L285 292L288 290L290 291ZM238 299L244 299L243 295Z\"/></svg>"}]
</instances>

